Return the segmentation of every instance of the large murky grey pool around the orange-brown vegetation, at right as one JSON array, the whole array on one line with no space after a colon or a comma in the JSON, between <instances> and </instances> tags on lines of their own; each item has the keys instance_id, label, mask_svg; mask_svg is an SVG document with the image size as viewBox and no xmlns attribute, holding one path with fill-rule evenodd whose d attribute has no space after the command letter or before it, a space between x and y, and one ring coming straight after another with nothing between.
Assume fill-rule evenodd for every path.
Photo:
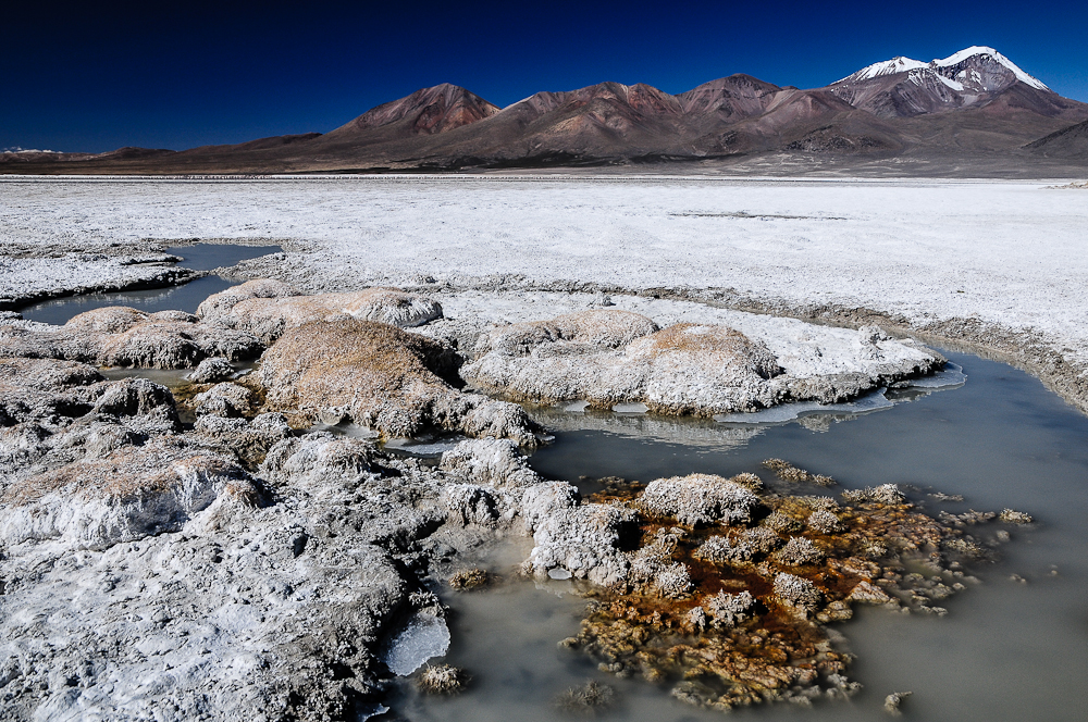
<instances>
[{"instance_id":1,"label":"large murky grey pool around the orange-brown vegetation, at right","mask_svg":"<svg viewBox=\"0 0 1088 722\"><path fill-rule=\"evenodd\" d=\"M753 708L734 717L880 720L886 695L911 690L905 719L1088 719L1088 419L1026 373L972 356L947 356L967 374L962 388L914 391L912 402L839 416L843 423L808 418L804 425L744 430L566 413L556 443L537 451L532 463L574 483L581 475L645 482L692 472L766 475L759 462L778 457L830 474L843 487L913 484L965 497L962 503L935 501L930 510L1026 511L1039 523L1013 532L1001 562L976 567L984 583L942 602L948 617L863 608L837 625L857 655L850 670L865 685L857 697L813 709ZM715 433L722 444L712 443ZM527 552L519 549L514 557ZM1013 574L1027 583L1012 581ZM468 669L473 685L453 699L405 690L392 701L394 710L412 720L449 722L564 719L551 707L554 697L593 677L620 696L619 707L604 719L721 719L672 700L664 688L603 674L579 652L558 648L558 640L577 631L583 603L556 596L568 584L555 581L537 589L520 583L452 595L456 614L446 661Z\"/></svg>"}]
</instances>

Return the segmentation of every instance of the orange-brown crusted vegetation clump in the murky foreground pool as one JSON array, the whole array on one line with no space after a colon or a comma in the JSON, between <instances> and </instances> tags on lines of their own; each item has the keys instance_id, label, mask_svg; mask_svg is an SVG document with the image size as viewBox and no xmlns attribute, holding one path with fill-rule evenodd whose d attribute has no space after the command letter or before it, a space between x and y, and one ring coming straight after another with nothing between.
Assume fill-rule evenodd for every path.
<instances>
[{"instance_id":1,"label":"orange-brown crusted vegetation clump in the murky foreground pool","mask_svg":"<svg viewBox=\"0 0 1088 722\"><path fill-rule=\"evenodd\" d=\"M1007 538L973 537L890 485L843 494L842 502L764 489L750 516L681 519L679 505L646 502L658 482L645 493L589 497L638 510L641 539L629 552L631 574L585 590L593 601L564 645L603 670L671 685L677 698L720 710L853 694L851 657L825 625L850 619L854 603L943 614L940 602L964 588L961 560L992 557ZM640 564L682 575L687 589L663 588Z\"/></svg>"}]
</instances>

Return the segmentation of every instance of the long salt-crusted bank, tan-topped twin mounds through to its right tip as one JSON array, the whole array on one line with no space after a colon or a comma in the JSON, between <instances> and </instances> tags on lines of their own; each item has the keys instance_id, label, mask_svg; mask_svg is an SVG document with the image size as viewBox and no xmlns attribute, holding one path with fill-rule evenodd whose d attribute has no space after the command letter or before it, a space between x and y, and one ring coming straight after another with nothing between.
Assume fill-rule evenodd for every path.
<instances>
[{"instance_id":1,"label":"long salt-crusted bank, tan-topped twin mounds through to its right tip","mask_svg":"<svg viewBox=\"0 0 1088 722\"><path fill-rule=\"evenodd\" d=\"M944 362L891 340L876 326L860 329L848 346L849 353L836 347L836 354L843 354L837 363L816 364L815 373L799 368L794 375L783 371L764 340L728 326L677 323L657 329L631 311L588 310L481 334L478 358L461 375L518 401L644 403L657 413L709 416L788 401L845 401Z\"/></svg>"}]
</instances>

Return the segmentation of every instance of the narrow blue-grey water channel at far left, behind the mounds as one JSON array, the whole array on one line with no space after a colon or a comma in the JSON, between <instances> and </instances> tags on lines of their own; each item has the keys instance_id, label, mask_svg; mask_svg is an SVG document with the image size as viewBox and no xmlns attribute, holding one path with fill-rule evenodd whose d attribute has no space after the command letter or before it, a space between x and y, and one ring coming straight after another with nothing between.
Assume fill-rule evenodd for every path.
<instances>
[{"instance_id":1,"label":"narrow blue-grey water channel at far left, behind the mounds","mask_svg":"<svg viewBox=\"0 0 1088 722\"><path fill-rule=\"evenodd\" d=\"M211 271L232 266L239 261L279 253L279 246L238 246L230 244L196 244L168 248L166 253L182 257L180 266L194 271ZM107 306L128 306L148 313L157 311L185 311L196 313L201 301L220 291L236 286L237 281L218 275L201 276L181 286L123 290L112 294L87 294L41 301L22 309L24 319L61 325L74 315Z\"/></svg>"}]
</instances>

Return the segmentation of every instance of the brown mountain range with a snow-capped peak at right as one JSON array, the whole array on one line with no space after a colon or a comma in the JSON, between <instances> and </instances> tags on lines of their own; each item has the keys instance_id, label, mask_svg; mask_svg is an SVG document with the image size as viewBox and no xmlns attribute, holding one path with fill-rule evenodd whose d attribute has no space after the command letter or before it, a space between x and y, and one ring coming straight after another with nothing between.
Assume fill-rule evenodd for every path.
<instances>
[{"instance_id":1,"label":"brown mountain range with a snow-capped peak at right","mask_svg":"<svg viewBox=\"0 0 1088 722\"><path fill-rule=\"evenodd\" d=\"M750 75L680 95L602 83L506 108L449 84L325 134L184 151L0 153L0 173L445 171L763 158L962 164L1088 162L1088 103L1063 98L992 48L894 58L823 88Z\"/></svg>"}]
</instances>

